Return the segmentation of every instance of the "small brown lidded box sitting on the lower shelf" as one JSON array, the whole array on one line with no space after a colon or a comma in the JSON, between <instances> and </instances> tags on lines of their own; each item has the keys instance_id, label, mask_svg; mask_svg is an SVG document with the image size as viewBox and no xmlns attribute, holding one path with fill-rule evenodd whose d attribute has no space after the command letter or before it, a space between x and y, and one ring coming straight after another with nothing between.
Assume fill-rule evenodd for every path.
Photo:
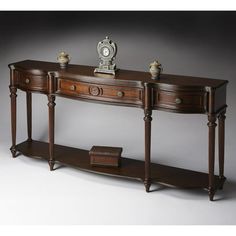
<instances>
[{"instance_id":1,"label":"small brown lidded box sitting on the lower shelf","mask_svg":"<svg viewBox=\"0 0 236 236\"><path fill-rule=\"evenodd\" d=\"M93 146L89 151L90 164L93 166L119 167L121 147Z\"/></svg>"}]
</instances>

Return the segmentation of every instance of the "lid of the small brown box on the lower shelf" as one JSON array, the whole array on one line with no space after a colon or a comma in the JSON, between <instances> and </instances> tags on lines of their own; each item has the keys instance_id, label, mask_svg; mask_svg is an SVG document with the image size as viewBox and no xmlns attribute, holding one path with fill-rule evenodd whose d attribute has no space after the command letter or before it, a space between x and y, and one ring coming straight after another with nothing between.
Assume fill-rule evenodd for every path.
<instances>
[{"instance_id":1,"label":"lid of the small brown box on the lower shelf","mask_svg":"<svg viewBox=\"0 0 236 236\"><path fill-rule=\"evenodd\" d=\"M121 147L93 146L89 155L120 157L122 150Z\"/></svg>"}]
</instances>

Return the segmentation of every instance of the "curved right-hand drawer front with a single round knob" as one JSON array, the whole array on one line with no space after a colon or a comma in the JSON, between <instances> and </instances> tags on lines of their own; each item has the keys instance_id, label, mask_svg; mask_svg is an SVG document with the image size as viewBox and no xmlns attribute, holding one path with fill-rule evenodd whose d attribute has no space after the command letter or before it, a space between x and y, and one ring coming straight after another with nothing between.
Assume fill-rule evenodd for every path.
<instances>
[{"instance_id":1,"label":"curved right-hand drawer front with a single round knob","mask_svg":"<svg viewBox=\"0 0 236 236\"><path fill-rule=\"evenodd\" d=\"M205 113L206 95L204 91L154 90L154 108L180 113Z\"/></svg>"}]
</instances>

